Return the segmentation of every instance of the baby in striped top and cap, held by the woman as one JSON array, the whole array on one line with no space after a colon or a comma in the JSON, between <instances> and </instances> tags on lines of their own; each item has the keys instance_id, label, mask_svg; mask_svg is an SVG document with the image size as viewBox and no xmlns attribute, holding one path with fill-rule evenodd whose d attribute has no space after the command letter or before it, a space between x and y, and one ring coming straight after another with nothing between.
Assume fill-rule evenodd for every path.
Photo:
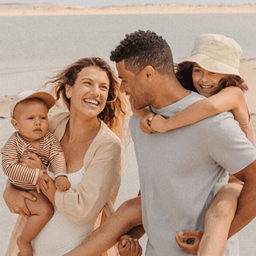
<instances>
[{"instance_id":1,"label":"baby in striped top and cap, held by the woman","mask_svg":"<svg viewBox=\"0 0 256 256\"><path fill-rule=\"evenodd\" d=\"M11 102L11 124L17 132L11 135L1 149L2 167L11 186L29 191L36 197L36 201L26 201L31 215L17 240L20 256L33 256L31 241L53 215L52 204L40 193L41 186L47 186L43 171L49 163L55 174L56 188L59 191L70 188L63 149L55 135L48 132L48 110L54 105L53 95L33 90L18 93ZM42 169L28 168L20 164L20 159L28 159L31 152L40 157Z\"/></svg>"}]
</instances>

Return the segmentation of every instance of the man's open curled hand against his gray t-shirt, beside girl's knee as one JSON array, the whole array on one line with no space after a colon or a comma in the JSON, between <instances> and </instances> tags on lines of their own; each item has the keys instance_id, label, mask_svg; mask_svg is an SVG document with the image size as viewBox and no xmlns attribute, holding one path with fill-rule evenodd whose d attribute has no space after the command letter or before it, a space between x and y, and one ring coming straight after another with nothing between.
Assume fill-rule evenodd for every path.
<instances>
[{"instance_id":1,"label":"man's open curled hand against his gray t-shirt, beside girl's knee","mask_svg":"<svg viewBox=\"0 0 256 256\"><path fill-rule=\"evenodd\" d=\"M203 237L203 231L181 231L175 234L175 240L178 246L184 252L196 255L198 252L198 247Z\"/></svg>"}]
</instances>

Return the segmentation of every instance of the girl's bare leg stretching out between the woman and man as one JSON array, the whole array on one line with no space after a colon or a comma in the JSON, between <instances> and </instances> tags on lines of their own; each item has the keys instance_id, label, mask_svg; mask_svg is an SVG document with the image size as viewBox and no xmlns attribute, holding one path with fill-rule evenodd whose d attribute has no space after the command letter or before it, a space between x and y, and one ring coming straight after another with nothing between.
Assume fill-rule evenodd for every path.
<instances>
[{"instance_id":1,"label":"girl's bare leg stretching out between the woman and man","mask_svg":"<svg viewBox=\"0 0 256 256\"><path fill-rule=\"evenodd\" d=\"M140 196L124 202L117 211L102 223L74 250L65 256L95 256L114 246L129 230L142 225L142 203Z\"/></svg>"}]
</instances>

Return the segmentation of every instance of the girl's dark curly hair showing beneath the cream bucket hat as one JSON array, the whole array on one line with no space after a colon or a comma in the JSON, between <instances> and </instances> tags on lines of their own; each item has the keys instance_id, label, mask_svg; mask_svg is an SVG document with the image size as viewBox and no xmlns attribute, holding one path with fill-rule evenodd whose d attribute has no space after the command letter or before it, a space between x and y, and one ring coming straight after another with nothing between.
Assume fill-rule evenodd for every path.
<instances>
[{"instance_id":1,"label":"girl's dark curly hair showing beneath the cream bucket hat","mask_svg":"<svg viewBox=\"0 0 256 256\"><path fill-rule=\"evenodd\" d=\"M194 63L187 61L176 65L176 78L186 90L197 92L192 80L193 64ZM242 90L242 92L245 92L248 90L248 87L244 82L245 81L238 75L225 75L225 77L219 82L220 87L212 92L212 95L215 95L216 93L220 92L220 90L223 90L223 88L228 86L237 86Z\"/></svg>"}]
</instances>

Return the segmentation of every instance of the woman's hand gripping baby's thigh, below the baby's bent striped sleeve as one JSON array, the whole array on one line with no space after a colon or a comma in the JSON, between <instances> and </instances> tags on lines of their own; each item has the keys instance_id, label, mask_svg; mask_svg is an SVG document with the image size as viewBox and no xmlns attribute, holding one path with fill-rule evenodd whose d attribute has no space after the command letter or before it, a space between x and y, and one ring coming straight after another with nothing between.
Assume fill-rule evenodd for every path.
<instances>
[{"instance_id":1,"label":"woman's hand gripping baby's thigh, below the baby's bent striped sleeve","mask_svg":"<svg viewBox=\"0 0 256 256\"><path fill-rule=\"evenodd\" d=\"M36 197L34 197L31 193L26 191L19 191L13 188L11 183L7 183L6 189L4 191L4 201L6 202L6 205L8 206L11 213L30 216L31 213L25 203L26 198L31 201L36 201Z\"/></svg>"}]
</instances>

